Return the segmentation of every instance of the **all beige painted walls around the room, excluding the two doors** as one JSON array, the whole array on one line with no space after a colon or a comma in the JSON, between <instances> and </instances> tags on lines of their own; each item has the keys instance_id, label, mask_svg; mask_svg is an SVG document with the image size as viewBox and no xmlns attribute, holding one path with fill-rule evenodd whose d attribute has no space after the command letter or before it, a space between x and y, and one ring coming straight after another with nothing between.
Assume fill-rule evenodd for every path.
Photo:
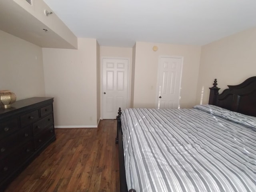
<instances>
[{"instance_id":1,"label":"all beige painted walls around the room, excluding the two doors","mask_svg":"<svg viewBox=\"0 0 256 192\"><path fill-rule=\"evenodd\" d=\"M100 64L103 57L130 59L132 107L154 108L160 56L182 56L181 108L208 102L214 78L218 86L239 84L256 72L256 28L205 46L136 42L133 48L99 46L96 39L78 39L78 50L40 48L0 31L0 90L17 100L53 96L58 127L96 127L100 118ZM158 51L152 50L158 46ZM200 65L199 65L200 63ZM196 91L197 88L197 91Z\"/></svg>"}]
</instances>

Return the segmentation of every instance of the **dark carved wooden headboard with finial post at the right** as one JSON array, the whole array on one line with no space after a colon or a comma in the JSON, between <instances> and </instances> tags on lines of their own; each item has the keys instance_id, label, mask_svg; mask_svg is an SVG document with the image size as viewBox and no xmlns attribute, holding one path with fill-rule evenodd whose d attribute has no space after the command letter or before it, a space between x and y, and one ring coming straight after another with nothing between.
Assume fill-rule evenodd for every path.
<instances>
[{"instance_id":1,"label":"dark carved wooden headboard with finial post at the right","mask_svg":"<svg viewBox=\"0 0 256 192\"><path fill-rule=\"evenodd\" d=\"M246 79L239 85L228 85L219 94L217 80L210 89L209 104L220 106L231 111L256 116L256 76Z\"/></svg>"}]
</instances>

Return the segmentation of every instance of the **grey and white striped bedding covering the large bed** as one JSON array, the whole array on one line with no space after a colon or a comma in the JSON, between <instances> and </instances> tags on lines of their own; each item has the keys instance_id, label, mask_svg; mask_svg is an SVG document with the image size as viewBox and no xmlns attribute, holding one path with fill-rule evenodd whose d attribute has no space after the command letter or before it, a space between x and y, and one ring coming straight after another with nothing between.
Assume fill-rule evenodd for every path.
<instances>
[{"instance_id":1,"label":"grey and white striped bedding covering the large bed","mask_svg":"<svg viewBox=\"0 0 256 192\"><path fill-rule=\"evenodd\" d=\"M256 192L256 132L200 109L125 109L128 189Z\"/></svg>"}]
</instances>

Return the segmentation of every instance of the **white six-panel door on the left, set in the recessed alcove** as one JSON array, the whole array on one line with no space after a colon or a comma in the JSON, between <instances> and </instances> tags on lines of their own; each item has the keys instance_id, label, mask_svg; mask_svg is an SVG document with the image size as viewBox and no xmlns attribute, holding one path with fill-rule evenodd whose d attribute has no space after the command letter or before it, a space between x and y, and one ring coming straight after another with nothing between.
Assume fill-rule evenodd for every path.
<instances>
[{"instance_id":1,"label":"white six-panel door on the left, set in the recessed alcove","mask_svg":"<svg viewBox=\"0 0 256 192\"><path fill-rule=\"evenodd\" d=\"M102 62L103 119L114 119L118 108L127 108L128 59L104 58Z\"/></svg>"}]
</instances>

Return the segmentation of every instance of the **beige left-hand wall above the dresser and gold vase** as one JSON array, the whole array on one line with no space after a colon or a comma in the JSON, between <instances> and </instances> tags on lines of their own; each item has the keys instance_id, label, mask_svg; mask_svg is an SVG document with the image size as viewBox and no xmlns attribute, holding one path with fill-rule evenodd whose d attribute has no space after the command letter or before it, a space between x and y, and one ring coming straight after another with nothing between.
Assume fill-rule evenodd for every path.
<instances>
[{"instance_id":1,"label":"beige left-hand wall above the dresser and gold vase","mask_svg":"<svg viewBox=\"0 0 256 192\"><path fill-rule=\"evenodd\" d=\"M0 30L0 90L17 100L45 96L42 48Z\"/></svg>"}]
</instances>

